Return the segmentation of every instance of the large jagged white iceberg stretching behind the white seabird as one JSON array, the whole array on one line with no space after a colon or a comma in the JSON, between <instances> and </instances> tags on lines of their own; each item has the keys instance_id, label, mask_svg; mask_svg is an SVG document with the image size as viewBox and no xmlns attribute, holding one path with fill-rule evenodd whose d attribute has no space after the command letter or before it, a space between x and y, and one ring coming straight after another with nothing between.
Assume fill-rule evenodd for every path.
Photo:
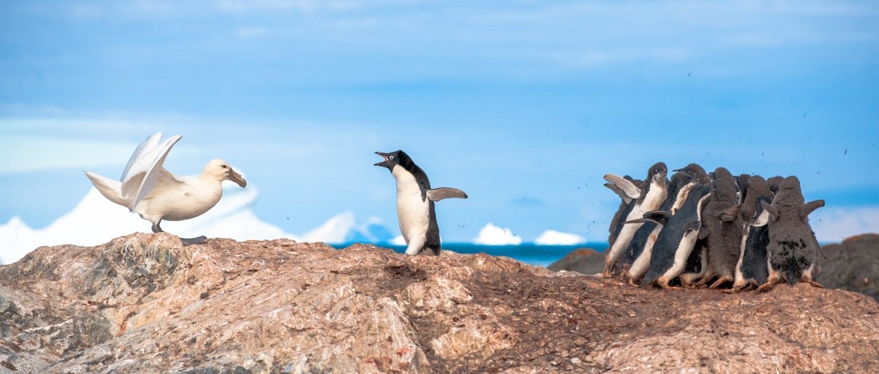
<instances>
[{"instance_id":1,"label":"large jagged white iceberg stretching behind the white seabird","mask_svg":"<svg viewBox=\"0 0 879 374\"><path fill-rule=\"evenodd\" d=\"M194 219L163 221L162 227L181 237L205 235L236 241L287 238L329 244L395 242L395 235L381 219L370 217L358 224L353 212L339 213L306 234L287 233L257 217L253 205L258 198L259 192L253 186L241 189L234 183L223 183L223 197L214 208ZM18 216L0 224L0 264L14 263L40 246L96 246L134 232L150 233L149 222L113 204L92 187L73 210L48 227L33 229Z\"/></svg>"}]
</instances>

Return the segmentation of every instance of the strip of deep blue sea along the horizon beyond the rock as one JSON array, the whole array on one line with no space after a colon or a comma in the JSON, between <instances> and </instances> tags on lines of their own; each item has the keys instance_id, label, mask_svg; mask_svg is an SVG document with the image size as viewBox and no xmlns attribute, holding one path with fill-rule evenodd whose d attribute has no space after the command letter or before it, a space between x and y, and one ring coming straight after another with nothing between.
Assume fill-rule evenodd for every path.
<instances>
[{"instance_id":1,"label":"strip of deep blue sea along the horizon beyond the rock","mask_svg":"<svg viewBox=\"0 0 879 374\"><path fill-rule=\"evenodd\" d=\"M345 248L351 244L352 243L348 243L345 245L338 245L334 247ZM377 246L383 248L392 248L400 253L406 251L406 247L404 246L393 246L389 244L377 244ZM485 253L487 255L503 255L506 257L512 257L522 263L547 267L550 264L560 260L565 255L568 255L574 249L592 248L598 252L603 252L605 249L607 249L607 243L590 242L573 246L539 246L529 243L523 243L515 246L485 246L471 243L443 243L442 248L457 253Z\"/></svg>"}]
</instances>

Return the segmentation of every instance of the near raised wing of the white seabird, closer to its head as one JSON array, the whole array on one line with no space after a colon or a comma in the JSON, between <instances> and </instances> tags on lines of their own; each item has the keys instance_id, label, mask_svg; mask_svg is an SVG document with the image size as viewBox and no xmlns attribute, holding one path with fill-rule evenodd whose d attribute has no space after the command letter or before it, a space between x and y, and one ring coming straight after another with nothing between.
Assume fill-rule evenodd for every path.
<instances>
[{"instance_id":1,"label":"near raised wing of the white seabird, closer to its head","mask_svg":"<svg viewBox=\"0 0 879 374\"><path fill-rule=\"evenodd\" d=\"M165 157L168 156L171 147L174 147L174 144L181 138L183 138L182 135L171 136L168 140L165 140L161 144L150 149L140 149L140 147L138 147L141 154L128 162L130 167L127 170L125 180L122 181L122 195L127 201L131 201L131 205L128 206L128 209L134 211L134 207L136 207L137 204L147 196L147 193L152 190L153 186L156 185L156 180L163 169L162 164ZM144 140L144 142L149 145L148 140L151 139L152 137ZM135 154L137 154L137 151L135 151Z\"/></svg>"}]
</instances>

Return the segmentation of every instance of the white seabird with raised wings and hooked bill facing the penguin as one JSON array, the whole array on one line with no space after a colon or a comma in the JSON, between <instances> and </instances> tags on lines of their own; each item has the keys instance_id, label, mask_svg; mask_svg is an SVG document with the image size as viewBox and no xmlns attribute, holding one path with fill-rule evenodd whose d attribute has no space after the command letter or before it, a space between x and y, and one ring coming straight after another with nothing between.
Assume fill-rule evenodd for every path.
<instances>
[{"instance_id":1,"label":"white seabird with raised wings and hooked bill facing the penguin","mask_svg":"<svg viewBox=\"0 0 879 374\"><path fill-rule=\"evenodd\" d=\"M240 174L220 159L207 162L199 176L171 174L162 164L171 147L183 136L174 135L159 144L161 138L162 133L154 133L134 149L118 182L84 171L105 198L152 222L154 233L163 232L159 227L162 219L191 219L213 208L222 198L222 181L247 185ZM206 240L204 236L181 239L185 245Z\"/></svg>"}]
</instances>

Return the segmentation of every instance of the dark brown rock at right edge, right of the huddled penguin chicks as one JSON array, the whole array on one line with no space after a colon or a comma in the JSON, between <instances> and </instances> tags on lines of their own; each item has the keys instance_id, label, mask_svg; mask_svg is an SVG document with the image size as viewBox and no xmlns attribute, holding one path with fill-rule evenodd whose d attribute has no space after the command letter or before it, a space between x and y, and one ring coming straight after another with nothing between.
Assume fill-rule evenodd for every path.
<instances>
[{"instance_id":1,"label":"dark brown rock at right edge, right of the huddled penguin chicks","mask_svg":"<svg viewBox=\"0 0 879 374\"><path fill-rule=\"evenodd\" d=\"M879 234L861 234L821 248L817 281L879 300Z\"/></svg>"}]
</instances>

